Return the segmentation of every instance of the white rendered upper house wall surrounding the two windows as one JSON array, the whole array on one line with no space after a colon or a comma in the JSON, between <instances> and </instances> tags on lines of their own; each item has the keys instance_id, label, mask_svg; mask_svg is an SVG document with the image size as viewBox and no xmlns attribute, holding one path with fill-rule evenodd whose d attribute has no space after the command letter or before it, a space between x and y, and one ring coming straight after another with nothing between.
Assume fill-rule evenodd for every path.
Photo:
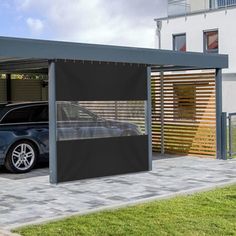
<instances>
[{"instance_id":1,"label":"white rendered upper house wall surrounding the two windows","mask_svg":"<svg viewBox=\"0 0 236 236\"><path fill-rule=\"evenodd\" d=\"M186 33L187 51L203 52L203 31L219 30L219 53L229 55L229 69L223 73L236 73L236 8L163 20L162 49L173 47L172 35Z\"/></svg>"}]
</instances>

